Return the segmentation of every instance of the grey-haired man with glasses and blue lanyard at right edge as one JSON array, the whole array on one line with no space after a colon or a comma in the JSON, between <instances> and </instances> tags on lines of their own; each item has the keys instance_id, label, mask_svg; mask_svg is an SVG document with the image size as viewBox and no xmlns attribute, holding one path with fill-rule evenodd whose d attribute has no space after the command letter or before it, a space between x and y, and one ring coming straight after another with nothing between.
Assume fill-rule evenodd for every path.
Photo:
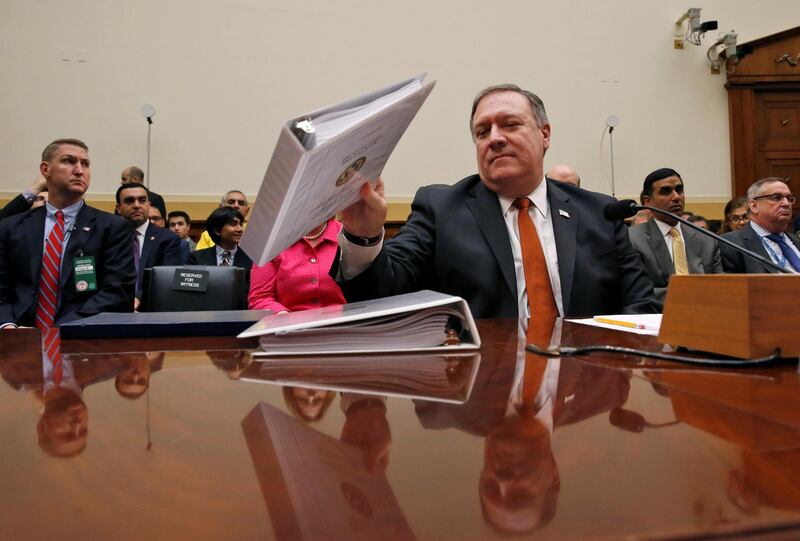
<instances>
[{"instance_id":1,"label":"grey-haired man with glasses and blue lanyard at right edge","mask_svg":"<svg viewBox=\"0 0 800 541\"><path fill-rule=\"evenodd\" d=\"M747 189L750 222L725 238L755 252L786 270L800 272L800 241L784 231L792 219L795 197L782 178L757 180ZM725 272L776 272L724 244L722 264Z\"/></svg>"}]
</instances>

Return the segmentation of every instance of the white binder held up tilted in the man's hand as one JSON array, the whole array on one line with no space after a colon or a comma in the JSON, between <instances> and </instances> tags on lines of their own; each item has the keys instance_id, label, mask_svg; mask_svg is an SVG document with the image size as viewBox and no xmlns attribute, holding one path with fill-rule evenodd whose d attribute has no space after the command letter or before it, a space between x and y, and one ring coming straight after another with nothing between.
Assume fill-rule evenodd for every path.
<instances>
[{"instance_id":1,"label":"white binder held up tilted in the man's hand","mask_svg":"<svg viewBox=\"0 0 800 541\"><path fill-rule=\"evenodd\" d=\"M241 246L263 265L358 200L433 90L423 75L284 124ZM359 180L360 179L360 180Z\"/></svg>"}]
</instances>

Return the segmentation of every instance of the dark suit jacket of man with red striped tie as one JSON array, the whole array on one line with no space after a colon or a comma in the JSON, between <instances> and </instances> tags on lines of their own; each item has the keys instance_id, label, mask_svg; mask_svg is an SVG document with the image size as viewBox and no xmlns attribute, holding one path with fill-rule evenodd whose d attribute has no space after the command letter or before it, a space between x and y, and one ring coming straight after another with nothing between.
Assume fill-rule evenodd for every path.
<instances>
[{"instance_id":1,"label":"dark suit jacket of man with red striped tie","mask_svg":"<svg viewBox=\"0 0 800 541\"><path fill-rule=\"evenodd\" d=\"M0 221L0 322L33 325L45 208ZM94 256L97 291L75 290L73 258ZM56 325L100 312L132 312L136 273L130 224L83 205L64 248Z\"/></svg>"}]
</instances>

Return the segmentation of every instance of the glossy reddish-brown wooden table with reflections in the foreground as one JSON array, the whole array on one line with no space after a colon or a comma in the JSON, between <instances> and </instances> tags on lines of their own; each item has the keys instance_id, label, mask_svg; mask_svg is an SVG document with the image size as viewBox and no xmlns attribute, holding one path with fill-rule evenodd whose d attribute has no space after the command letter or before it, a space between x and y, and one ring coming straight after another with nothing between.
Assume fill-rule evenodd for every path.
<instances>
[{"instance_id":1,"label":"glossy reddish-brown wooden table with reflections in the foreground","mask_svg":"<svg viewBox=\"0 0 800 541\"><path fill-rule=\"evenodd\" d=\"M244 381L253 342L219 338L65 341L81 393L45 400L38 331L4 331L0 539L800 538L796 363L553 361L551 431L509 407L516 322L480 329L461 405ZM570 323L561 341L660 348Z\"/></svg>"}]
</instances>

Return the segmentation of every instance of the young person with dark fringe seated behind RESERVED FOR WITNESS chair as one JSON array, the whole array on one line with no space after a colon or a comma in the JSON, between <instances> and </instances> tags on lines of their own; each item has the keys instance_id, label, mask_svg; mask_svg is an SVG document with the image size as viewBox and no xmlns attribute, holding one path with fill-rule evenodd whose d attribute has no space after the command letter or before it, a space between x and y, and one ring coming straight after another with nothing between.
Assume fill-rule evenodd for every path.
<instances>
[{"instance_id":1,"label":"young person with dark fringe seated behind RESERVED FOR WITNESS chair","mask_svg":"<svg viewBox=\"0 0 800 541\"><path fill-rule=\"evenodd\" d=\"M244 298L250 291L250 268L253 261L239 248L242 240L244 216L233 207L220 207L206 220L206 231L211 235L214 246L197 250L189 255L189 265L209 267L241 267L245 270Z\"/></svg>"}]
</instances>

